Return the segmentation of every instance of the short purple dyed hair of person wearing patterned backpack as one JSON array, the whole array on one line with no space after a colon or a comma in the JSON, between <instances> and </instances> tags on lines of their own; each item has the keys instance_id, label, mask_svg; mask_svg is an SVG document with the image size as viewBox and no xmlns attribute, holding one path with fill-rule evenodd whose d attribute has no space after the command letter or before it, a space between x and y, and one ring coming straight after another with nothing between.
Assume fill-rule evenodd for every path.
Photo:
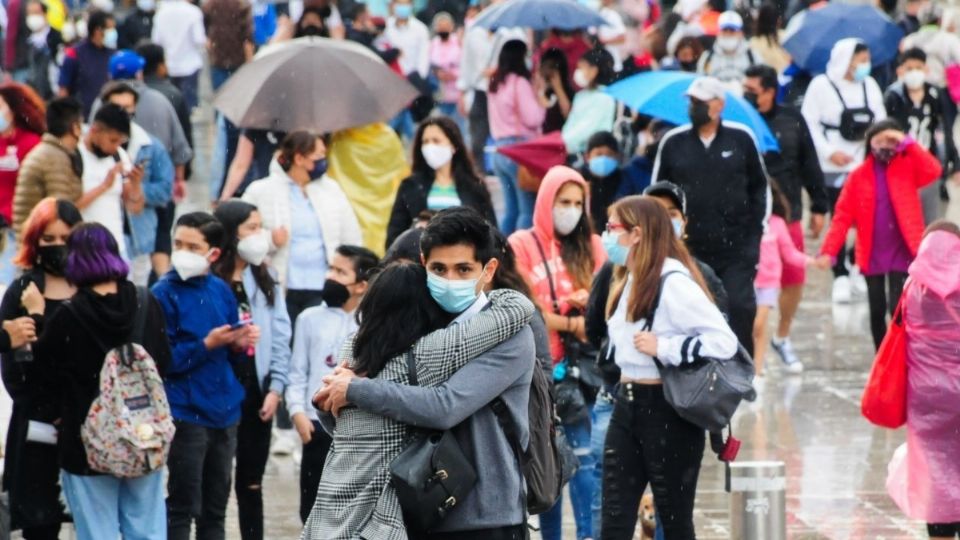
<instances>
[{"instance_id":1,"label":"short purple dyed hair of person wearing patterned backpack","mask_svg":"<svg viewBox=\"0 0 960 540\"><path fill-rule=\"evenodd\" d=\"M66 277L77 287L127 278L130 267L120 257L113 234L99 223L82 223L67 239Z\"/></svg>"}]
</instances>

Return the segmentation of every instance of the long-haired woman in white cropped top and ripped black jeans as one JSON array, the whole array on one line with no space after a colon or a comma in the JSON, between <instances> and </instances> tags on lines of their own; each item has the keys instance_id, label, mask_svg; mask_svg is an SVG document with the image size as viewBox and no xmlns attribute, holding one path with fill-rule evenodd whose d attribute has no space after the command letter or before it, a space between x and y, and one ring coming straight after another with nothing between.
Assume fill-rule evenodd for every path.
<instances>
[{"instance_id":1,"label":"long-haired woman in white cropped top and ripped black jeans","mask_svg":"<svg viewBox=\"0 0 960 540\"><path fill-rule=\"evenodd\" d=\"M620 265L607 324L622 375L604 451L600 537L633 538L640 498L651 484L666 539L693 539L705 434L667 403L653 357L673 366L701 357L730 358L737 338L657 201L634 196L617 202L603 243ZM670 272L655 305L661 276ZM653 327L646 331L651 312Z\"/></svg>"}]
</instances>

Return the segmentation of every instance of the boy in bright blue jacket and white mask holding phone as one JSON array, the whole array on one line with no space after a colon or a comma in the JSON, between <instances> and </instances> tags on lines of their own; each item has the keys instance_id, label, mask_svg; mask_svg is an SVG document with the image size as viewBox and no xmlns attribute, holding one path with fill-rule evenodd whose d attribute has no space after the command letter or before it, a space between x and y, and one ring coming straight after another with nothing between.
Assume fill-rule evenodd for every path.
<instances>
[{"instance_id":1,"label":"boy in bright blue jacket and white mask holding phone","mask_svg":"<svg viewBox=\"0 0 960 540\"><path fill-rule=\"evenodd\" d=\"M223 237L223 225L212 215L181 216L174 229L174 270L152 289L173 351L164 380L177 427L167 462L170 540L187 540L194 519L198 538L224 536L243 401L232 364L246 359L241 351L259 337L255 325L235 326L236 297L210 274Z\"/></svg>"}]
</instances>

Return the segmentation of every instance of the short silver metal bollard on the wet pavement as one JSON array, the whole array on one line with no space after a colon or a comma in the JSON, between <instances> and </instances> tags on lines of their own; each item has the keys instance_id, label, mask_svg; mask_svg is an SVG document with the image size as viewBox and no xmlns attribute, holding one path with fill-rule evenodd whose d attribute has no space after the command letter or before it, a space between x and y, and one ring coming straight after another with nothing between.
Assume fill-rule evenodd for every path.
<instances>
[{"instance_id":1,"label":"short silver metal bollard on the wet pavement","mask_svg":"<svg viewBox=\"0 0 960 540\"><path fill-rule=\"evenodd\" d=\"M730 464L731 540L786 540L786 466L782 461Z\"/></svg>"}]
</instances>

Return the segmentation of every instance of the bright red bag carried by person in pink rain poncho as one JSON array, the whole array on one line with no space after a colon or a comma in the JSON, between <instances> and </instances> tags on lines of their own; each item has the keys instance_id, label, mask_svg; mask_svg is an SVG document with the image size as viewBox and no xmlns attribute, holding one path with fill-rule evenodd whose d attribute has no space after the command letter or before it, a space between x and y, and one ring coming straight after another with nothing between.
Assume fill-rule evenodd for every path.
<instances>
[{"instance_id":1,"label":"bright red bag carried by person in pink rain poncho","mask_svg":"<svg viewBox=\"0 0 960 540\"><path fill-rule=\"evenodd\" d=\"M903 322L906 291L873 361L860 411L871 423L896 429L907 422L907 331Z\"/></svg>"}]
</instances>

